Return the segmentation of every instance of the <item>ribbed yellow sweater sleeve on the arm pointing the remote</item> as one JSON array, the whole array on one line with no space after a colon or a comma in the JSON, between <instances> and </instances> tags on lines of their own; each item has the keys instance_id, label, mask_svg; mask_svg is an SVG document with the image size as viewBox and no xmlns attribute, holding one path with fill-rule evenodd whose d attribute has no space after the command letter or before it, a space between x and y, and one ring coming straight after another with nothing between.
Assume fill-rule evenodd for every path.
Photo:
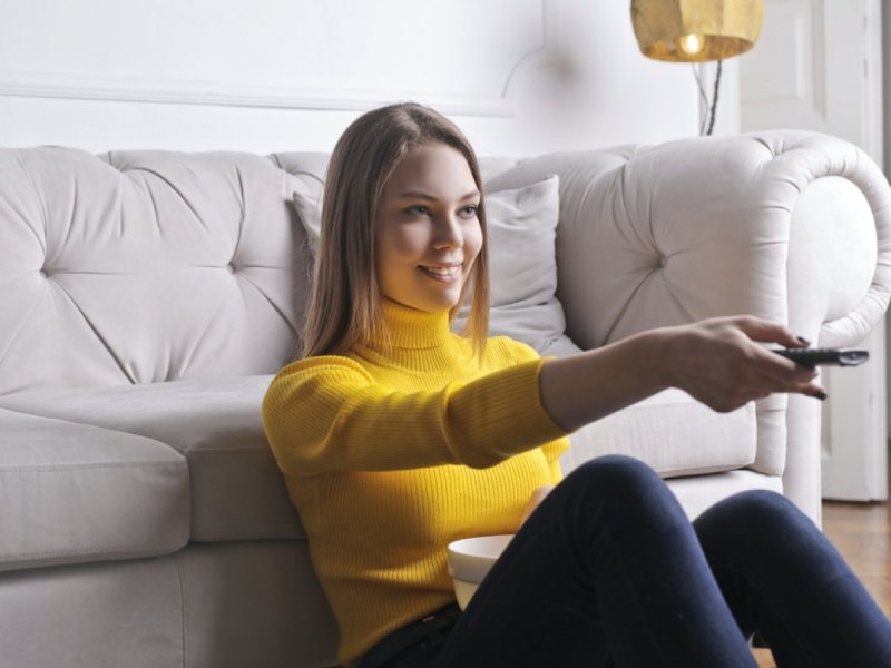
<instances>
[{"instance_id":1,"label":"ribbed yellow sweater sleeve on the arm pointing the remote","mask_svg":"<svg viewBox=\"0 0 891 668\"><path fill-rule=\"evenodd\" d=\"M264 430L285 473L484 469L566 435L541 405L541 363L437 392L396 392L352 360L311 357L273 380L263 402Z\"/></svg>"}]
</instances>

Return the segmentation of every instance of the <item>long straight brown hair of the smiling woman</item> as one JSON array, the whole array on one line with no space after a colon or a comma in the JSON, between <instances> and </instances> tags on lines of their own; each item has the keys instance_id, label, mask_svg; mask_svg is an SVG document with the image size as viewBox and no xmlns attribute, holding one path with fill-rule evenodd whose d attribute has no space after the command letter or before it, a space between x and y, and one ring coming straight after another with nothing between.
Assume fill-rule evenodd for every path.
<instances>
[{"instance_id":1,"label":"long straight brown hair of the smiling woman","mask_svg":"<svg viewBox=\"0 0 891 668\"><path fill-rule=\"evenodd\" d=\"M461 131L437 111L414 102L364 114L337 140L327 168L322 229L310 307L303 330L303 356L339 354L358 343L384 338L378 285L374 222L384 184L417 146L446 144L459 150L482 194L479 164ZM464 335L482 355L489 330L489 261L486 208L478 210L482 248L450 312L453 318L471 292Z\"/></svg>"}]
</instances>

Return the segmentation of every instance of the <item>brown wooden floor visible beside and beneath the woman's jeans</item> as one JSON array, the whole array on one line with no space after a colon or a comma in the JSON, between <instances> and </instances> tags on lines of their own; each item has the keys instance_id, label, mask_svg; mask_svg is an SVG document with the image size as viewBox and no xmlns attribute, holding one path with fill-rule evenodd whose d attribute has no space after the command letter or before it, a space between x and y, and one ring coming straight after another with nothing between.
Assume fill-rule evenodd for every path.
<instances>
[{"instance_id":1,"label":"brown wooden floor visible beside and beneath the woman's jeans","mask_svg":"<svg viewBox=\"0 0 891 668\"><path fill-rule=\"evenodd\" d=\"M891 513L885 503L823 503L823 530L866 589L891 617ZM755 650L761 668L775 664L770 650Z\"/></svg>"}]
</instances>

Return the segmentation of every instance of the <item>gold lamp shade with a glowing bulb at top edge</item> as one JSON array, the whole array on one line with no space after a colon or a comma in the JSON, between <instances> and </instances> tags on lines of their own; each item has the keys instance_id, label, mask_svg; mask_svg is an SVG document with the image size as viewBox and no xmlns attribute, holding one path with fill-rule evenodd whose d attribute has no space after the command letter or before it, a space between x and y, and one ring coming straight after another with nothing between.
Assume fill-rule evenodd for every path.
<instances>
[{"instance_id":1,"label":"gold lamp shade with a glowing bulb at top edge","mask_svg":"<svg viewBox=\"0 0 891 668\"><path fill-rule=\"evenodd\" d=\"M631 0L640 51L670 62L745 53L755 45L763 19L763 0Z\"/></svg>"}]
</instances>

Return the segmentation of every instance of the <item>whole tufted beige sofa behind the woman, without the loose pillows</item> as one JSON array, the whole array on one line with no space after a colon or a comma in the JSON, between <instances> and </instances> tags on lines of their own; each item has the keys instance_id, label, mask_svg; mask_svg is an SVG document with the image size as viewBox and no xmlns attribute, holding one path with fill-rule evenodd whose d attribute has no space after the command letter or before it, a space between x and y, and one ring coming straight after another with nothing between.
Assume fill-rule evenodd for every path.
<instances>
[{"instance_id":1,"label":"whole tufted beige sofa behind the woman, without the loose pillows","mask_svg":"<svg viewBox=\"0 0 891 668\"><path fill-rule=\"evenodd\" d=\"M292 194L317 191L325 160L0 150L4 668L336 662L260 419L306 298L309 214ZM559 177L556 249L554 233L538 248L559 278L545 353L730 313L849 345L887 306L889 187L836 139L694 138L484 170L491 190ZM626 452L691 515L767 488L815 517L819 411L775 396L718 415L669 391L579 431L564 464Z\"/></svg>"}]
</instances>

